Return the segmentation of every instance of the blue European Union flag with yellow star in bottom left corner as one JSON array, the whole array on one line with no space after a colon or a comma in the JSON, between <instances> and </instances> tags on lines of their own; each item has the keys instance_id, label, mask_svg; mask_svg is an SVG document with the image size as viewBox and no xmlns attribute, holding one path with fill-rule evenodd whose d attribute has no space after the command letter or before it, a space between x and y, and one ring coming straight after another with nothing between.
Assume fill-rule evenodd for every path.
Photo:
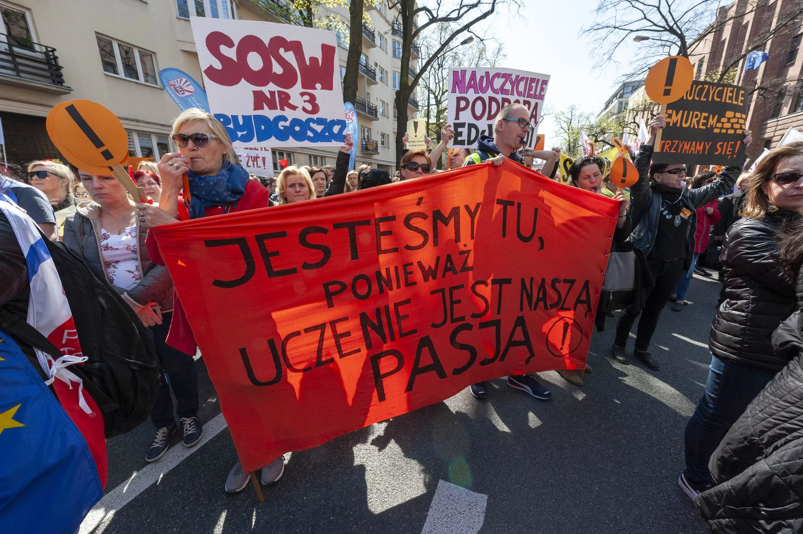
<instances>
[{"instance_id":1,"label":"blue European Union flag with yellow star in bottom left corner","mask_svg":"<svg viewBox=\"0 0 803 534\"><path fill-rule=\"evenodd\" d=\"M59 400L2 330L0 383L0 532L77 532L103 496L95 461Z\"/></svg>"}]
</instances>

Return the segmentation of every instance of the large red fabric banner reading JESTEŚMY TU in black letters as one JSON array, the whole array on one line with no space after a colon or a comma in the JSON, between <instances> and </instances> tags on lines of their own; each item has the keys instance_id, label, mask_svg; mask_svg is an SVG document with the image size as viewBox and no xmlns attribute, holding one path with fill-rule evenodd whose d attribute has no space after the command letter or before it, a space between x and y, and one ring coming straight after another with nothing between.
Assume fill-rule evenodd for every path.
<instances>
[{"instance_id":1,"label":"large red fabric banner reading JESTE\u015aMY TU in black letters","mask_svg":"<svg viewBox=\"0 0 803 534\"><path fill-rule=\"evenodd\" d=\"M506 161L154 229L243 469L585 366L618 202Z\"/></svg>"}]
</instances>

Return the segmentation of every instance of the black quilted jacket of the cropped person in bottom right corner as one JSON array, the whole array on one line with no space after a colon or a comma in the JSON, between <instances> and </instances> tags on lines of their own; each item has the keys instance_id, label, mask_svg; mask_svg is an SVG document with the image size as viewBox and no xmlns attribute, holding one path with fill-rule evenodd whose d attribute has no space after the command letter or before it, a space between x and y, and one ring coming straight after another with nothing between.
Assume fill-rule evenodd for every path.
<instances>
[{"instance_id":1,"label":"black quilted jacket of the cropped person in bottom right corner","mask_svg":"<svg viewBox=\"0 0 803 534\"><path fill-rule=\"evenodd\" d=\"M797 301L803 310L803 269ZM719 485L695 500L711 532L803 532L803 312L772 344L789 365L728 430L708 465Z\"/></svg>"}]
</instances>

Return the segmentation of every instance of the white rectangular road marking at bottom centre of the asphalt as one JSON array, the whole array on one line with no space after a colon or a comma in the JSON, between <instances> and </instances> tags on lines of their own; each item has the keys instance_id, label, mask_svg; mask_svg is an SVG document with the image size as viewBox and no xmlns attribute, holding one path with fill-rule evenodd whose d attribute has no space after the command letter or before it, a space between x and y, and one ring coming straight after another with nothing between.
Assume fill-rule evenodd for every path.
<instances>
[{"instance_id":1,"label":"white rectangular road marking at bottom centre of the asphalt","mask_svg":"<svg viewBox=\"0 0 803 534\"><path fill-rule=\"evenodd\" d=\"M485 521L488 496L438 480L421 534L476 534Z\"/></svg>"}]
</instances>

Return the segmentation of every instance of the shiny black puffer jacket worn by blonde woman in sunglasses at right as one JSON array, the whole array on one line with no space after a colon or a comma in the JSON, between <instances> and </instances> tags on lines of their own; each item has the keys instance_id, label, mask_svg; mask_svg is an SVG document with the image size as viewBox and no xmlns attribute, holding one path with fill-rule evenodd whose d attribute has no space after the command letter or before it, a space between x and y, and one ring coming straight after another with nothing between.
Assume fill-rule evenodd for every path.
<instances>
[{"instance_id":1,"label":"shiny black puffer jacket worn by blonde woman in sunglasses at right","mask_svg":"<svg viewBox=\"0 0 803 534\"><path fill-rule=\"evenodd\" d=\"M719 306L708 340L711 353L780 371L789 359L772 351L770 336L795 310L794 287L778 262L777 233L797 212L777 210L760 219L733 223L722 247L726 299Z\"/></svg>"}]
</instances>

